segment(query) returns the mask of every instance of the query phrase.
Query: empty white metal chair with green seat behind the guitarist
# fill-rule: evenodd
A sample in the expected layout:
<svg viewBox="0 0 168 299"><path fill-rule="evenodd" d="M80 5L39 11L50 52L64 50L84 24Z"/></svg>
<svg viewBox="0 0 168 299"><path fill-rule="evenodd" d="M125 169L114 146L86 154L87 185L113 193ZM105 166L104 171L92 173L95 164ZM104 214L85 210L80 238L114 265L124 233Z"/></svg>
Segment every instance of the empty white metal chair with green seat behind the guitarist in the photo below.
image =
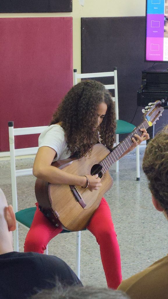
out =
<svg viewBox="0 0 168 299"><path fill-rule="evenodd" d="M116 113L116 145L119 144L119 134L129 134L135 129L135 126L132 123L128 123L124 120L118 119L118 85L117 85L117 68L114 68L114 71L111 72L102 72L102 73L86 73L86 74L77 74L77 69L73 70L74 74L74 85L78 83L78 79L89 79L89 78L100 78L100 77L114 77L114 84L104 85L106 89L114 89L115 97L112 97L112 100L115 102L115 113ZM97 80L97 79L96 79ZM119 171L119 163L115 162L115 170ZM136 180L140 180L140 162L139 162L139 145L136 147Z"/></svg>

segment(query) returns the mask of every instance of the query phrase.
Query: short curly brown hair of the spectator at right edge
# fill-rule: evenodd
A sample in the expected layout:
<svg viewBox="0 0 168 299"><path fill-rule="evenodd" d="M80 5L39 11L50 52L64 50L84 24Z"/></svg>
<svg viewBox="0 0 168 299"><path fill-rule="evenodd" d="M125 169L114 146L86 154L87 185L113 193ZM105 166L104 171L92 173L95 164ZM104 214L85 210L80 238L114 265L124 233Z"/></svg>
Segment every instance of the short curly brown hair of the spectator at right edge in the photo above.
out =
<svg viewBox="0 0 168 299"><path fill-rule="evenodd" d="M151 193L168 215L168 126L147 145L142 167Z"/></svg>

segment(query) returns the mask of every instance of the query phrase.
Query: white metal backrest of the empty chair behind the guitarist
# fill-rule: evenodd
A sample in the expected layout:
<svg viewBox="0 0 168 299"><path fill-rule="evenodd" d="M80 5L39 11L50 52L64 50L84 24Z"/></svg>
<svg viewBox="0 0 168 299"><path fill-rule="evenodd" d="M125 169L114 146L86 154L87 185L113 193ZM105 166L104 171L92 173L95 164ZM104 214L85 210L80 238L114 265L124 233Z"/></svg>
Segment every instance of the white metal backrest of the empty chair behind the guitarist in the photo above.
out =
<svg viewBox="0 0 168 299"><path fill-rule="evenodd" d="M114 84L104 85L106 89L114 89L115 97L112 97L112 100L115 102L115 113L116 119L118 119L118 86L117 86L117 68L114 68L112 72L103 72L103 73L86 73L78 74L77 69L73 70L74 74L74 85L78 83L78 79L88 79L88 78L100 78L100 77L114 77Z"/></svg>

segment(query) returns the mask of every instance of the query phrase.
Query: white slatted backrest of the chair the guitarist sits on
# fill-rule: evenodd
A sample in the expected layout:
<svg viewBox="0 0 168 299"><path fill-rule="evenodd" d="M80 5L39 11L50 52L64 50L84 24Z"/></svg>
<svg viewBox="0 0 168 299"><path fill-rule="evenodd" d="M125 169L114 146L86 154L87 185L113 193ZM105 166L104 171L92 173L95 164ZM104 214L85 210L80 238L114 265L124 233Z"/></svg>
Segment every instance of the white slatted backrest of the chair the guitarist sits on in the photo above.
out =
<svg viewBox="0 0 168 299"><path fill-rule="evenodd" d="M11 169L11 183L12 183L12 204L13 210L18 211L17 204L17 176L33 175L33 168L16 170L15 157L20 155L33 155L38 151L38 147L29 147L22 149L15 149L15 136L17 135L30 135L39 134L47 128L47 126L29 127L29 128L14 128L13 121L8 122L9 127L9 145L10 145L10 169Z"/></svg>

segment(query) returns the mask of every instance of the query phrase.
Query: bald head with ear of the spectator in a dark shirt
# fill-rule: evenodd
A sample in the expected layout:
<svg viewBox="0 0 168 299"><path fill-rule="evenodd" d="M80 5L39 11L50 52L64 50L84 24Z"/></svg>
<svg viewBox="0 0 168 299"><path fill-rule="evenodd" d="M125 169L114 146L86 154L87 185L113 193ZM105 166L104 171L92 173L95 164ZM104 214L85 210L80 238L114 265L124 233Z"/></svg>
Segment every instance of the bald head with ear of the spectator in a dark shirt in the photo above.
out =
<svg viewBox="0 0 168 299"><path fill-rule="evenodd" d="M0 189L0 254L13 251L12 231L16 229L16 219L11 205Z"/></svg>

